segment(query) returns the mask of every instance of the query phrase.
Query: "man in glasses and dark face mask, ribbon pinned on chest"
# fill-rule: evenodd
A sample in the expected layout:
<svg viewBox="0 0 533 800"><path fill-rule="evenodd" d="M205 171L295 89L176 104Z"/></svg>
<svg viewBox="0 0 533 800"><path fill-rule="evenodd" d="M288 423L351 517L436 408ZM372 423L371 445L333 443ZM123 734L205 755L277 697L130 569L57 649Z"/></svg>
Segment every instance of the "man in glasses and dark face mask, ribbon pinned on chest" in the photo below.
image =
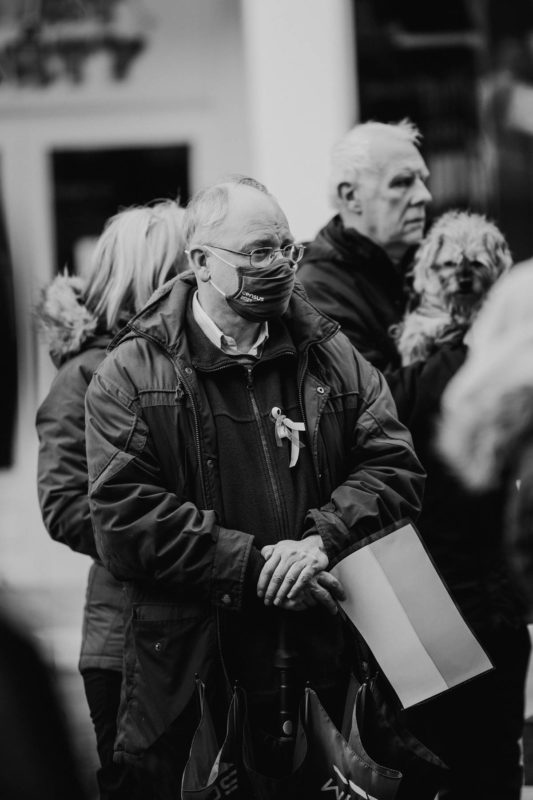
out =
<svg viewBox="0 0 533 800"><path fill-rule="evenodd" d="M264 186L200 192L192 272L127 326L87 396L90 503L100 555L130 619L117 758L146 797L179 796L197 724L226 683L278 732L281 620L340 722L348 674L328 572L360 537L416 515L423 471L381 377L295 283L302 247Z"/></svg>

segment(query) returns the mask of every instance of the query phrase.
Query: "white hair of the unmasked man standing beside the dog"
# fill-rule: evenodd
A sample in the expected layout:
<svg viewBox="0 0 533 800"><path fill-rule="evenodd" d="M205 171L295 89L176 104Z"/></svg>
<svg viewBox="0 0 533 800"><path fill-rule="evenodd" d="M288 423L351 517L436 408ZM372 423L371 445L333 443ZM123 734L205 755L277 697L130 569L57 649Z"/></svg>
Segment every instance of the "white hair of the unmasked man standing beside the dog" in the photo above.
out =
<svg viewBox="0 0 533 800"><path fill-rule="evenodd" d="M422 134L409 119L400 122L363 122L345 133L331 151L329 194L334 208L341 201L338 188L341 183L357 184L364 171L379 170L381 164L371 154L377 140L407 142L418 147Z"/></svg>

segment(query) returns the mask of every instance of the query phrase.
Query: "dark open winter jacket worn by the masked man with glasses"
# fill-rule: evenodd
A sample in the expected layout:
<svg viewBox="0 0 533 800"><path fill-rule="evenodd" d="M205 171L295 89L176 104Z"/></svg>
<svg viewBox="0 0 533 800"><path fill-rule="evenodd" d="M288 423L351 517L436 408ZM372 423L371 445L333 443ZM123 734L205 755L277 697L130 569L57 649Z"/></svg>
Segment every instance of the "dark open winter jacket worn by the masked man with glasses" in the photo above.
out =
<svg viewBox="0 0 533 800"><path fill-rule="evenodd" d="M263 607L255 599L263 564L258 542L253 533L227 523L234 510L225 509L221 487L228 476L221 475L220 464L231 443L217 438L224 427L211 408L223 370L238 367L224 364L229 357L218 355L210 365L192 356L194 288L189 273L160 292L115 342L87 393L97 546L110 571L130 582L126 703L118 737L118 748L129 755L142 752L179 716L195 673L210 674L218 652L217 616L234 625L240 619L242 630L251 630L248 618ZM315 499L299 532L320 533L333 561L357 538L416 516L423 472L383 378L338 325L304 299L299 286L282 324L296 351L290 375L305 421ZM269 352L272 378L278 380L288 352L266 350L254 370L266 367ZM241 372L245 386L250 374L244 366ZM275 517L281 500L275 471L267 465L276 444L274 426L262 415L263 401L262 395L250 399L249 408L257 409L256 448L264 453L264 468L250 470L237 460L234 469L243 497L271 496ZM230 402L220 391L217 402L234 411L233 395ZM223 412L217 410L226 416ZM271 541L283 532L277 526ZM307 615L296 615L302 628L315 637L323 632L328 641L335 620L324 619L320 609L301 613ZM241 639L255 647L254 658L271 661L271 652L258 651L263 633L258 622L250 641ZM315 651L311 660L319 657Z"/></svg>

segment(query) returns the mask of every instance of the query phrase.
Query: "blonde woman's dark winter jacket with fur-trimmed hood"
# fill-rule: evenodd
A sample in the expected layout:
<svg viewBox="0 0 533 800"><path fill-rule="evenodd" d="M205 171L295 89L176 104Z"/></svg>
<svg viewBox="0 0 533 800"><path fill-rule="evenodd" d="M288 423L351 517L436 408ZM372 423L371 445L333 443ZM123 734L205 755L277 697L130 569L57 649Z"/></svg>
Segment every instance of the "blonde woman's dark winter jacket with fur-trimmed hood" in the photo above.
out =
<svg viewBox="0 0 533 800"><path fill-rule="evenodd" d="M41 325L59 368L37 412L38 495L50 536L95 559L87 585L80 669L122 669L122 584L99 563L87 499L85 392L111 336L99 334L81 302L82 283L58 276L40 306Z"/></svg>

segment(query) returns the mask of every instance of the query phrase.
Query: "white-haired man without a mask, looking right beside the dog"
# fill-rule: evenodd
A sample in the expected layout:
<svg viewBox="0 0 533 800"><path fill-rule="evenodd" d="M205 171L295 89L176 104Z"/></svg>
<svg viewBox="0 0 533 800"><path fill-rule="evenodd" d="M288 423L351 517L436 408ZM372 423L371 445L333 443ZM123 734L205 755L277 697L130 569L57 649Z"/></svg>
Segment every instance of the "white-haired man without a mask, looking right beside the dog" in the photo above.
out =
<svg viewBox="0 0 533 800"><path fill-rule="evenodd" d="M389 327L405 309L405 271L431 195L420 133L408 120L365 122L334 147L330 194L337 214L308 245L298 277L378 369L400 366Z"/></svg>

